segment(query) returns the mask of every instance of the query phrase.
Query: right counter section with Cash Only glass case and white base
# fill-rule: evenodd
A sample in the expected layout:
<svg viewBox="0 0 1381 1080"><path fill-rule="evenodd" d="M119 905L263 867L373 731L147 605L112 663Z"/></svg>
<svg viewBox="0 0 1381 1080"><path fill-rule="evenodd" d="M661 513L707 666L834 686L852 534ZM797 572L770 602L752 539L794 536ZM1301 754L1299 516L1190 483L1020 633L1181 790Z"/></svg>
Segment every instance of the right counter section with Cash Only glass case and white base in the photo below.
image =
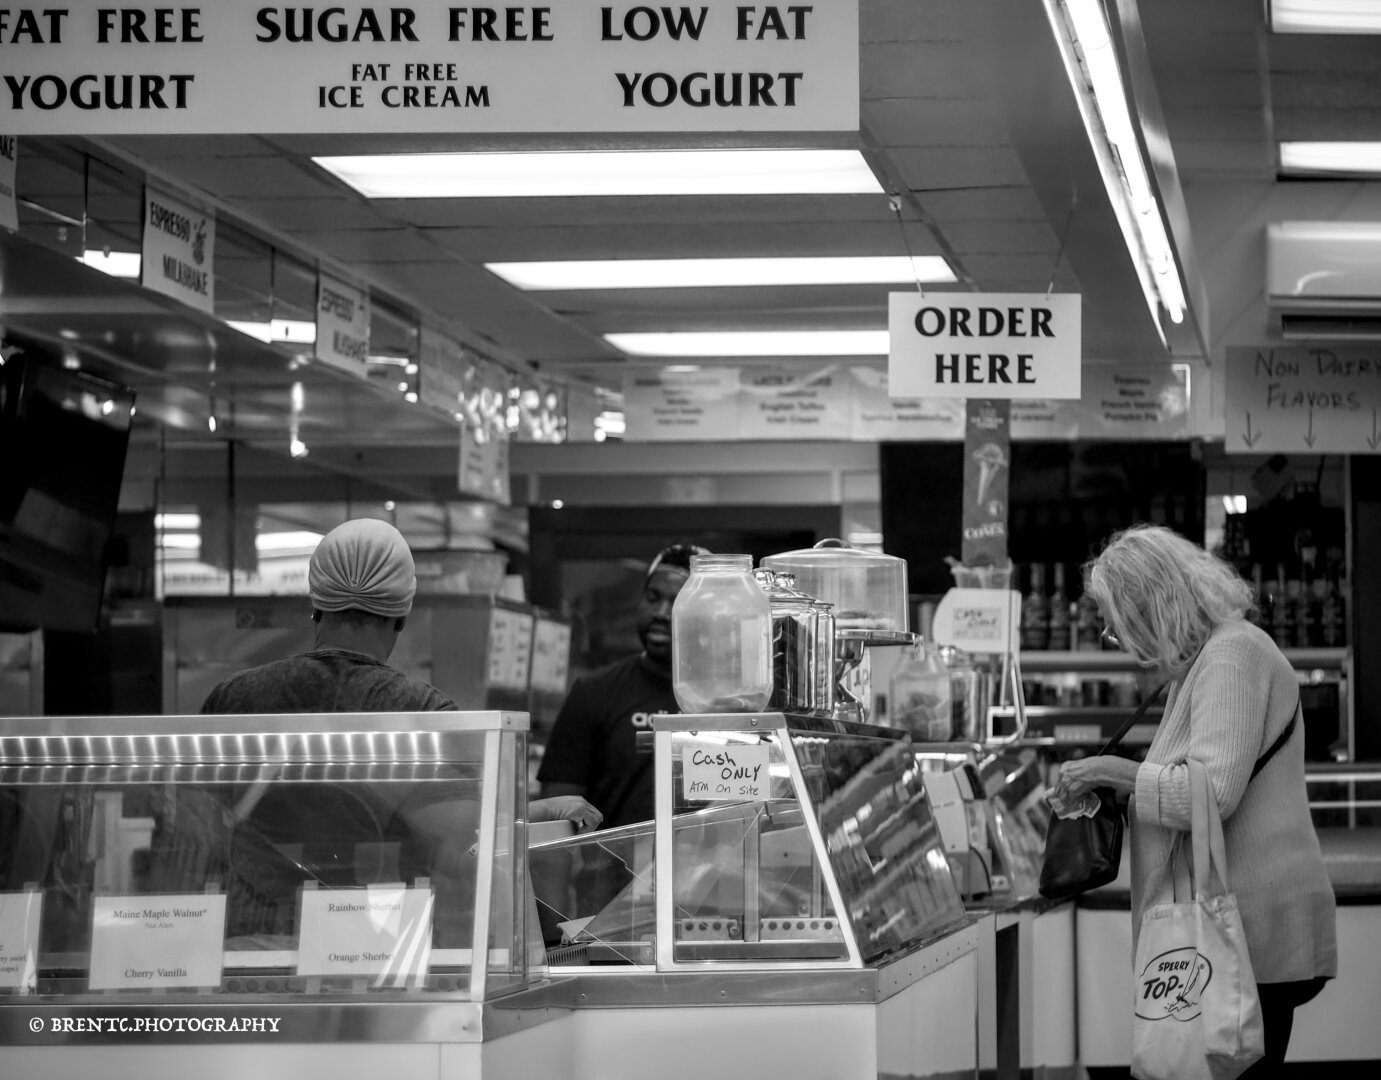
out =
<svg viewBox="0 0 1381 1080"><path fill-rule="evenodd" d="M655 822L530 852L577 1044L656 1045L688 1080L707 1032L721 1076L972 1074L992 918L964 910L910 737L783 713L653 726Z"/></svg>

